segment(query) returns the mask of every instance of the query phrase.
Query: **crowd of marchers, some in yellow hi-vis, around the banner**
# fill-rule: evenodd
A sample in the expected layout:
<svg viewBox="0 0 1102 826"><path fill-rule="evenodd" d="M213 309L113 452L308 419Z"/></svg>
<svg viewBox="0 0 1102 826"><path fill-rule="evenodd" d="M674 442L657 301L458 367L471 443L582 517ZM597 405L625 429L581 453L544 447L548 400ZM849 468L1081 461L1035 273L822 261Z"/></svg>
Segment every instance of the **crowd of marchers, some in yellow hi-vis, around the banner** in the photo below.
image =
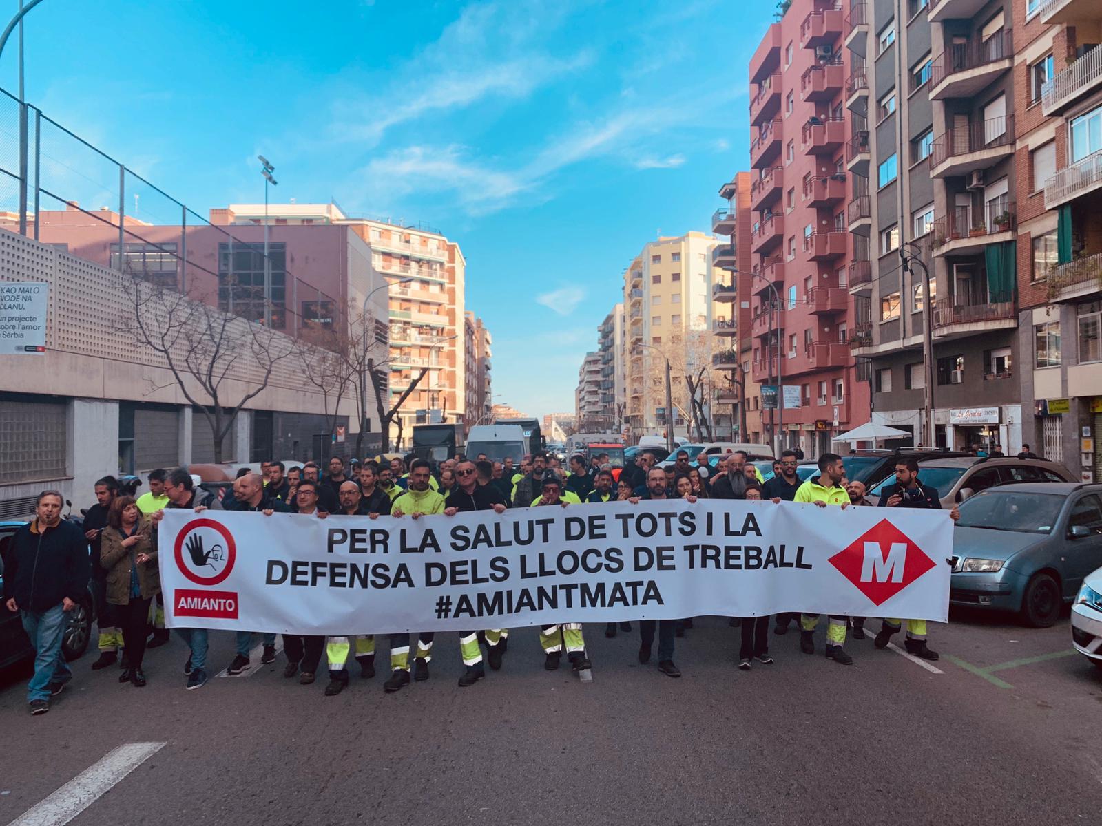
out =
<svg viewBox="0 0 1102 826"><path fill-rule="evenodd" d="M391 515L419 518L429 514L454 515L467 511L504 513L509 508L599 506L611 501L638 503L653 499L746 499L811 502L818 507L883 507L940 509L936 489L921 483L918 465L900 458L896 481L886 486L879 500L866 499L865 486L847 481L842 458L824 454L818 460L818 474L806 481L797 475L798 455L782 452L771 461L771 476L763 481L761 468L746 453L736 450L721 457L712 467L705 457L691 463L689 454L678 452L673 461L658 466L652 453L641 453L624 468L608 465L607 455L587 463L584 456L571 456L569 469L558 457L538 452L526 455L517 466L511 459L490 461L484 455L456 456L433 467L424 459L393 457L389 460L345 461L334 456L327 474L313 461L285 467L280 461L261 463L261 472L242 469L233 483L233 492L206 489L186 468L154 470L149 475L149 491L137 499L120 493L118 481L106 476L96 481L96 504L77 526L62 518L62 494L43 491L37 497L35 519L12 539L4 559L3 601L11 611L20 611L23 627L35 649L34 675L28 687L32 714L50 709L50 698L72 678L72 670L62 655L66 613L84 597L89 587L95 594L99 626L99 656L91 664L101 671L118 663L120 683L134 687L147 684L144 652L169 641L164 628L164 604L158 573L158 526L165 509L194 511L227 510L272 513L298 513L327 519L344 515ZM222 496L219 496L222 492ZM763 506L767 507L767 506ZM951 517L958 518L953 509ZM90 551L90 553L89 553ZM800 650L815 652L814 631L818 615L779 613L774 633L784 634L791 622L799 623ZM864 639L864 617L831 616L827 627L825 655L849 665L853 657L843 648L852 626L853 637ZM771 664L768 637L770 617L732 618L741 627L738 667L748 671L755 663ZM892 635L903 629L904 620L885 618L875 637L875 646L888 645ZM907 651L926 660L938 654L927 644L925 620L906 620ZM658 641L658 670L679 677L674 665L674 640L692 628L692 619L641 620L639 626L640 663L651 660ZM175 629L188 646L184 665L186 688L202 687L208 680L206 629ZM605 635L629 632L630 622L609 622ZM276 634L261 633L260 663L277 659ZM471 686L486 676L483 649L490 670L503 666L508 650L508 629L483 629L460 634L463 673L460 686ZM398 692L410 681L429 680L432 659L432 632L417 637L412 657L410 634L389 634L388 693ZM574 671L592 667L581 623L543 626L540 644L544 667L560 667L563 652ZM253 633L236 632L235 656L227 667L239 674L251 667ZM283 676L299 683L315 682L322 657L326 660L328 683L325 695L344 691L350 680L349 654L363 677L375 676L376 640L374 635L293 635L283 634L287 662Z"/></svg>

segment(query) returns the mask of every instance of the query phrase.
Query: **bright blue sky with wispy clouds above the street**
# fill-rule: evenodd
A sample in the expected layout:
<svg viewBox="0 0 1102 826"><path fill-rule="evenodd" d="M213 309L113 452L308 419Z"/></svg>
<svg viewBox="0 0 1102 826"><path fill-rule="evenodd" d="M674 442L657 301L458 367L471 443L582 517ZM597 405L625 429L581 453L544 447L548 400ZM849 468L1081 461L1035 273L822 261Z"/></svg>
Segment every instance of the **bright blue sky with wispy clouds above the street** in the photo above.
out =
<svg viewBox="0 0 1102 826"><path fill-rule="evenodd" d="M746 167L747 64L773 7L44 0L26 97L201 215L262 198L262 153L280 200L440 228L495 338L495 401L542 415L573 411L639 247L709 229Z"/></svg>

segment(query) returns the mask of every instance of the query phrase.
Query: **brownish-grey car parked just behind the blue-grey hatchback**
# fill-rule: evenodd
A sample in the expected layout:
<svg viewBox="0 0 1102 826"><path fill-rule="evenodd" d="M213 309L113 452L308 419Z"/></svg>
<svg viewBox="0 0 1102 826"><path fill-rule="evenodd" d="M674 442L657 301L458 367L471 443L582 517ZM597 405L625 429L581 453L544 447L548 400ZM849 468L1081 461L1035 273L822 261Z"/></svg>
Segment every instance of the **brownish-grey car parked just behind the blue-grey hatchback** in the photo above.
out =
<svg viewBox="0 0 1102 826"><path fill-rule="evenodd" d="M895 465L892 465L895 470ZM996 485L1024 482L1071 482L1076 477L1066 467L1045 459L977 459L974 456L936 456L918 460L918 478L923 485L938 489L941 507L950 509L969 497ZM876 500L887 485L894 485L889 474L872 490L868 498Z"/></svg>

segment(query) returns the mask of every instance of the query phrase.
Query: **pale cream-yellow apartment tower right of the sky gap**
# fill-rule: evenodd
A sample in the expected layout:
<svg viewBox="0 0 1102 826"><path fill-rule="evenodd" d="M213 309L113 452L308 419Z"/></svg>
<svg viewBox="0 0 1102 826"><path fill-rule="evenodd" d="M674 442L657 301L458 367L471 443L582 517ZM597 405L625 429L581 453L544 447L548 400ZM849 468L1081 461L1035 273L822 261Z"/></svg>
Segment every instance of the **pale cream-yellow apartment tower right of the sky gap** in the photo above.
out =
<svg viewBox="0 0 1102 826"><path fill-rule="evenodd" d="M685 374L706 367L711 378L715 246L703 232L662 237L644 244L624 273L626 425L636 438L665 430L667 362L680 434L692 417Z"/></svg>

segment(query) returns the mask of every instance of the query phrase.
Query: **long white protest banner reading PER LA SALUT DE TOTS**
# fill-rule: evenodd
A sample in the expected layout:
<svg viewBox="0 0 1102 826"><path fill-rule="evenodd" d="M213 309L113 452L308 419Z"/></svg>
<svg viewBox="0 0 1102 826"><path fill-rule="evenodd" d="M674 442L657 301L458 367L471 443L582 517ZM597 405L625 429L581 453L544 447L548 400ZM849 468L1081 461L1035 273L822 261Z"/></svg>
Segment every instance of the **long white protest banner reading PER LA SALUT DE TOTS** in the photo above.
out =
<svg viewBox="0 0 1102 826"><path fill-rule="evenodd" d="M683 500L455 517L166 510L169 627L298 634L778 611L947 620L948 512Z"/></svg>

